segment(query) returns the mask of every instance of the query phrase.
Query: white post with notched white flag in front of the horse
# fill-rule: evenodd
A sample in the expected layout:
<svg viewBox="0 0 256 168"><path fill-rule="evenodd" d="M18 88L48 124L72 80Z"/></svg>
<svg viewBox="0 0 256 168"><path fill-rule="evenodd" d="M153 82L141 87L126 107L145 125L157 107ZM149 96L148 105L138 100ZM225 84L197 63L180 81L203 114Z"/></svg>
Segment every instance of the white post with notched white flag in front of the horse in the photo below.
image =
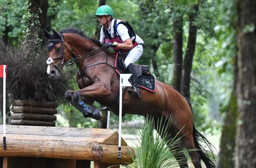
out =
<svg viewBox="0 0 256 168"><path fill-rule="evenodd" d="M132 76L132 74L120 74L119 81L119 137L118 137L118 160L121 159L121 131L122 131L122 87L123 86L132 86L128 79Z"/></svg>

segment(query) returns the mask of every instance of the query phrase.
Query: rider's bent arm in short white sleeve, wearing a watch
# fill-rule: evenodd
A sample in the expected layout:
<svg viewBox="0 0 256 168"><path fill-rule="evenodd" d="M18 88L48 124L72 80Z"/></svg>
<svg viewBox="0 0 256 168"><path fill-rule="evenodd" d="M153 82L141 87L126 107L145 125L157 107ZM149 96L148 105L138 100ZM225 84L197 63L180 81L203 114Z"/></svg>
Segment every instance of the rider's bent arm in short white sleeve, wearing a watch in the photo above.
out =
<svg viewBox="0 0 256 168"><path fill-rule="evenodd" d="M123 24L117 26L117 33L123 41L123 43L118 43L117 47L120 49L132 49L133 42L128 34L128 29Z"/></svg>

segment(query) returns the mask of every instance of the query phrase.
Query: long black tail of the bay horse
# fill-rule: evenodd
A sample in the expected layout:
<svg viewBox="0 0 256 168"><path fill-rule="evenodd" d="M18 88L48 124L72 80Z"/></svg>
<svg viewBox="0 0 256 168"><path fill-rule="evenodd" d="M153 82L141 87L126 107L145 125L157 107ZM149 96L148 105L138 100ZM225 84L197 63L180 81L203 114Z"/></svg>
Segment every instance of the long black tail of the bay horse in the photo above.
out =
<svg viewBox="0 0 256 168"><path fill-rule="evenodd" d="M190 101L186 98L191 111L193 113L192 105ZM195 147L198 149L198 153L204 162L206 168L214 168L215 167L215 157L212 148L215 148L200 132L198 132L195 128L194 122L193 122L193 139L194 139L194 144ZM207 147L209 148L209 151L204 149L204 147L200 143L205 143ZM212 159L211 159L212 157Z"/></svg>

